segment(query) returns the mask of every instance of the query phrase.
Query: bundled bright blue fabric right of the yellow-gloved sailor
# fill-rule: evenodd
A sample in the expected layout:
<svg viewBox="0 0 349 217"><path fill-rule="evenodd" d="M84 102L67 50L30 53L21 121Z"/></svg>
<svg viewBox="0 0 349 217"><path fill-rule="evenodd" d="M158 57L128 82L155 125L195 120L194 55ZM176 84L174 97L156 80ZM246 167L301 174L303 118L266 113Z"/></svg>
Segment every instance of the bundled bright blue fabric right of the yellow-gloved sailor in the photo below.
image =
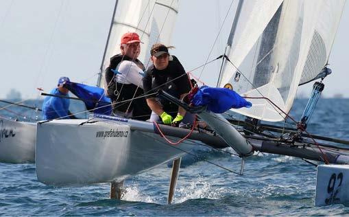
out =
<svg viewBox="0 0 349 217"><path fill-rule="evenodd" d="M202 86L191 100L195 106L207 106L208 111L224 113L229 109L250 108L251 102L246 101L235 91L227 88Z"/></svg>

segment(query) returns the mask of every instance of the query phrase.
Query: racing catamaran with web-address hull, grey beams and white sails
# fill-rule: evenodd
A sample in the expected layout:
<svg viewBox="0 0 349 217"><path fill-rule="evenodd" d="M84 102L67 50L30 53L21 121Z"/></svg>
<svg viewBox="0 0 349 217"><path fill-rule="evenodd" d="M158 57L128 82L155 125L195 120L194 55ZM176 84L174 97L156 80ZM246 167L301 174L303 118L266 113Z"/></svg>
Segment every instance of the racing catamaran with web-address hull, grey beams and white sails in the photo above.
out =
<svg viewBox="0 0 349 217"><path fill-rule="evenodd" d="M172 3L156 1L154 5L176 14L178 3L176 7ZM230 119L229 122L223 115L206 110L206 106L189 106L171 98L171 95L159 93L197 113L210 130L191 132L169 126L158 128L157 124L108 115L45 122L38 124L37 128L38 180L49 185L122 181L176 159L198 144L230 146L241 157L241 168L254 151L349 164L346 148L320 143L315 139L330 139L306 131L306 124L324 86L322 82L315 83L311 100L296 128L261 123L292 119L289 111L298 85L316 78L324 79L330 72L326 64L344 3L330 0L239 1L217 86L234 89L252 102L250 109L232 109L233 113L245 115L245 121ZM145 37L145 45L151 44L147 22L140 22L141 19L137 18L136 25L132 26L127 16L120 15L125 5L125 1L117 1L101 75L108 65L106 57L115 54L112 49L119 41L119 28L123 30L121 32L139 32ZM133 10L141 8L134 7ZM163 35L161 31L159 35ZM101 80L104 80L103 76L99 84ZM163 134L160 135L163 131L171 139L186 139L173 146L165 141ZM331 141L346 143L338 139Z"/></svg>

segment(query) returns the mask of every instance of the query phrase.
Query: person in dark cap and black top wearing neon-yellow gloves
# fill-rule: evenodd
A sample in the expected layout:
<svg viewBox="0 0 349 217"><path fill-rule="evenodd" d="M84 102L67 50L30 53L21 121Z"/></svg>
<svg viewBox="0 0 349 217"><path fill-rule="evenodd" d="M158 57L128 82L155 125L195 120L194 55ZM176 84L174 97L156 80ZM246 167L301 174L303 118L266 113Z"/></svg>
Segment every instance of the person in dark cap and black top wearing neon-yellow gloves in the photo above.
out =
<svg viewBox="0 0 349 217"><path fill-rule="evenodd" d="M169 54L169 49L162 44L155 44L150 50L151 65L145 72L143 87L145 93L154 93L159 89L170 93L178 99L191 90L190 80L176 56ZM182 107L172 104L162 98L147 96L147 104L152 109L150 121L158 122L161 118L163 124L178 126L182 124L192 124L195 115L186 113Z"/></svg>

